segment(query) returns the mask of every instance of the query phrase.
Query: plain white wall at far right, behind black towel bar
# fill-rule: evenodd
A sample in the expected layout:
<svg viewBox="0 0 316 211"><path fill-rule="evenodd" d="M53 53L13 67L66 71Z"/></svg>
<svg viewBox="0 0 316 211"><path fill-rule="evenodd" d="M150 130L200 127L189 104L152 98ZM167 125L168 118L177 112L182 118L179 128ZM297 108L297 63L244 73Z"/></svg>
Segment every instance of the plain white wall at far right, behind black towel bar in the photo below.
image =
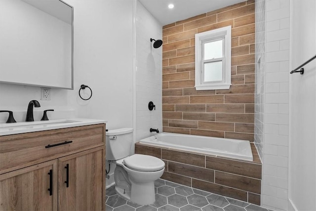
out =
<svg viewBox="0 0 316 211"><path fill-rule="evenodd" d="M291 1L291 69L316 54L316 1ZM316 60L290 76L289 210L316 210Z"/></svg>

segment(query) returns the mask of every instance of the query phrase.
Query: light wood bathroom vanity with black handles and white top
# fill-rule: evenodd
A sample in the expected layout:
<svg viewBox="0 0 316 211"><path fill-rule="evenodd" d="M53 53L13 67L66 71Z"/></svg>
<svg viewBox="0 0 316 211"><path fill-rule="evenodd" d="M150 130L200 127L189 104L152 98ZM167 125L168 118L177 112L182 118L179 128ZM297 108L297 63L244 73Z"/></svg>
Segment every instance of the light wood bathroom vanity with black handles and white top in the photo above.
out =
<svg viewBox="0 0 316 211"><path fill-rule="evenodd" d="M105 123L2 127L0 211L104 211Z"/></svg>

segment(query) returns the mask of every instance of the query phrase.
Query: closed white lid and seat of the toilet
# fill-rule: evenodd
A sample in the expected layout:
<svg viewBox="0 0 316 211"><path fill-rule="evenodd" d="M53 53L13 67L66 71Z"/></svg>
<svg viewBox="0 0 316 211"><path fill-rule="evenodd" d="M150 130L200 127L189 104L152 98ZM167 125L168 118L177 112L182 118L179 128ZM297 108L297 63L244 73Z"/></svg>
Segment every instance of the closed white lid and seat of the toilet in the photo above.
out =
<svg viewBox="0 0 316 211"><path fill-rule="evenodd" d="M129 169L156 171L164 168L164 162L150 155L134 154L124 159L123 164Z"/></svg>

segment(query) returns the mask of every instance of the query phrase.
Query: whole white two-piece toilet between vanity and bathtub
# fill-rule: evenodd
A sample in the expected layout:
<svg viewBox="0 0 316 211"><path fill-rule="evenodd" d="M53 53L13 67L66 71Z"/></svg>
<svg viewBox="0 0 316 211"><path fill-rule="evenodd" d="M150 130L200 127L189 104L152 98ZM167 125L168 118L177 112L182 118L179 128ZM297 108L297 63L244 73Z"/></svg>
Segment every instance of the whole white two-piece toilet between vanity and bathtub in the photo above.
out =
<svg viewBox="0 0 316 211"><path fill-rule="evenodd" d="M155 203L154 181L164 171L164 162L149 155L130 155L133 128L106 132L106 158L117 167L114 171L115 190L121 197L139 204Z"/></svg>

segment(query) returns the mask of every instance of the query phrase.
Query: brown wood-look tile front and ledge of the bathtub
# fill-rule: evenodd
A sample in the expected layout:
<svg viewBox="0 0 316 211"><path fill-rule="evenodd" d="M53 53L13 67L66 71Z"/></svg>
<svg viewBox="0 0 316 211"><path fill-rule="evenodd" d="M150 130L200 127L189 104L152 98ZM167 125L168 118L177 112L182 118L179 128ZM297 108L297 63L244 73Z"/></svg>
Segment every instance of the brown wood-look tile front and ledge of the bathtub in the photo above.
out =
<svg viewBox="0 0 316 211"><path fill-rule="evenodd" d="M162 179L260 205L262 165L253 143L251 150L253 162L135 144L136 154L164 161Z"/></svg>

